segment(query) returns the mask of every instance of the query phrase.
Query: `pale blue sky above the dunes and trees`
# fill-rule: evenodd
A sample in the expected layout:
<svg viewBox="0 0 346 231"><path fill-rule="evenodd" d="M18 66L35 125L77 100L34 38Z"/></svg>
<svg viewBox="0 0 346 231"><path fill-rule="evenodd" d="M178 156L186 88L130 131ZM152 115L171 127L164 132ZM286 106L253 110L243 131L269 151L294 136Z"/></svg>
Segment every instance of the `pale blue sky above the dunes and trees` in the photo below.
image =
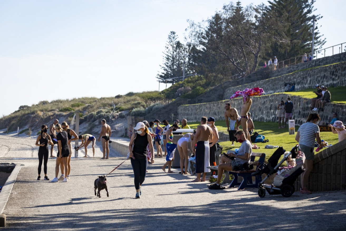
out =
<svg viewBox="0 0 346 231"><path fill-rule="evenodd" d="M183 42L186 19L207 19L224 3L0 0L0 116L41 100L158 90L169 32ZM346 42L345 3L317 0L315 8L324 16L318 23L325 47Z"/></svg>

